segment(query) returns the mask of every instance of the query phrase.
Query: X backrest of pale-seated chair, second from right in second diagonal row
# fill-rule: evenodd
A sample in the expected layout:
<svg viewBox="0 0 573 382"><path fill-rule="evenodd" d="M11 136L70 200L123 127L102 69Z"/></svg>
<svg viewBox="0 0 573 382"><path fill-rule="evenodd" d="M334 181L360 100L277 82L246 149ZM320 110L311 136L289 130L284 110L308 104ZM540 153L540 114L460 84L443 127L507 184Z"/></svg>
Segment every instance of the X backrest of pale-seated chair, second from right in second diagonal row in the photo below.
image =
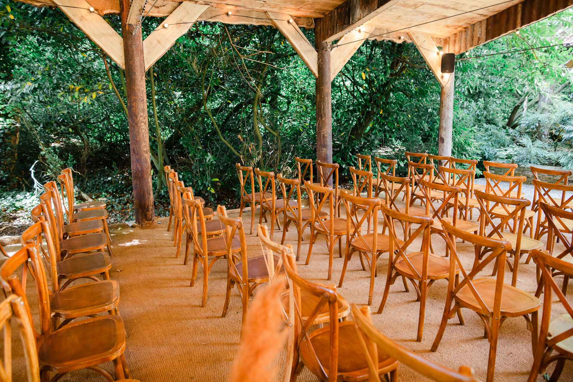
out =
<svg viewBox="0 0 573 382"><path fill-rule="evenodd" d="M497 196L493 194L488 194L480 190L476 190L476 199L480 203L480 235L486 236L488 238L504 238L503 230L504 227L509 225L509 222L513 220L514 232L517 234L517 241L515 249L521 248L521 235L523 235L523 225L525 222L525 207L529 206L531 202L527 199L517 199L508 198L507 196ZM511 206L511 208L508 208ZM500 217L499 214L494 214L493 211L497 208L503 208L504 215ZM519 215L519 216L518 216ZM493 219L500 219L500 223L496 224ZM517 231L515 227L518 225ZM485 229L488 225L492 226L492 231L489 234L485 234Z"/></svg>

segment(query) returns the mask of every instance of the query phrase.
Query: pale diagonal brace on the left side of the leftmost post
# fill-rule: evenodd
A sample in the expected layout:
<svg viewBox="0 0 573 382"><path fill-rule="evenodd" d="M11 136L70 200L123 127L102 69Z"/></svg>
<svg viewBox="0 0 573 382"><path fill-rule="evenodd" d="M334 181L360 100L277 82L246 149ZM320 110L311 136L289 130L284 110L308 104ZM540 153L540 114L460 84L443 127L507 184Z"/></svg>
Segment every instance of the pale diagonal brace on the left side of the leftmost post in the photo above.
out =
<svg viewBox="0 0 573 382"><path fill-rule="evenodd" d="M125 69L123 40L85 0L53 0L77 27L101 48L121 69Z"/></svg>

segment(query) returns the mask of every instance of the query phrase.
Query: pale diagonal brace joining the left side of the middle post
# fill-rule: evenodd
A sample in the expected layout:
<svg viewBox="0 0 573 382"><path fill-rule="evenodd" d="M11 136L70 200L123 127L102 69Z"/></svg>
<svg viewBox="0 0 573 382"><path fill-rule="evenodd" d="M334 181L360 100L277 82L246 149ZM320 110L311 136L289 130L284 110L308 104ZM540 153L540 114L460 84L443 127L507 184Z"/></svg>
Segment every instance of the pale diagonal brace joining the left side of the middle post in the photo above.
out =
<svg viewBox="0 0 573 382"><path fill-rule="evenodd" d="M265 12L267 17L273 22L282 33L282 36L288 40L295 52L299 54L300 58L311 70L315 77L318 76L317 69L317 54L315 48L308 41L307 37L294 22L290 15L284 13ZM293 20L293 22L289 22Z"/></svg>

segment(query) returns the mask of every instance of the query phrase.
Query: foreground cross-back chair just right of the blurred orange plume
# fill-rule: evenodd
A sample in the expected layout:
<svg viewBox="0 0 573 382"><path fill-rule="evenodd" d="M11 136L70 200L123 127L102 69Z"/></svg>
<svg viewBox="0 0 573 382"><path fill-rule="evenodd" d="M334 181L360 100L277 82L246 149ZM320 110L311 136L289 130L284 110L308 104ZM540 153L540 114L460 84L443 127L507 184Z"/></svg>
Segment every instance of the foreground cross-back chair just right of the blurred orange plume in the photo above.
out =
<svg viewBox="0 0 573 382"><path fill-rule="evenodd" d="M351 321L339 322L339 295L334 285L318 285L301 278L296 271L293 255L284 251L285 271L289 283L291 306L291 336L289 349L292 349L290 381L295 382L301 371L300 361L321 381L366 381L368 363L359 353L360 337L356 335ZM303 310L303 301L307 308ZM308 298L306 296L311 296ZM328 324L311 332L312 325L319 315L328 309ZM310 314L307 312L311 312ZM308 316L303 316L308 314ZM289 352L290 353L290 352ZM397 361L378 353L380 375L391 373L391 382L397 382Z"/></svg>

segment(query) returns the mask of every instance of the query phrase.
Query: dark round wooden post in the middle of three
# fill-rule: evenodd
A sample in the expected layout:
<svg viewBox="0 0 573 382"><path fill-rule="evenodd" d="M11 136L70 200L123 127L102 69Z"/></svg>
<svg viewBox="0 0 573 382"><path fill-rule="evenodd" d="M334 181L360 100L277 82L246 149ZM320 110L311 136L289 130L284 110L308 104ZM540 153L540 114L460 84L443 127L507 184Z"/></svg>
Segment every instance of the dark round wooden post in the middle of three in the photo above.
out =
<svg viewBox="0 0 573 382"><path fill-rule="evenodd" d="M320 19L317 20L320 23ZM316 77L316 159L332 163L332 94L330 74L330 43L323 41L320 27L315 27L315 48L318 52Z"/></svg>

